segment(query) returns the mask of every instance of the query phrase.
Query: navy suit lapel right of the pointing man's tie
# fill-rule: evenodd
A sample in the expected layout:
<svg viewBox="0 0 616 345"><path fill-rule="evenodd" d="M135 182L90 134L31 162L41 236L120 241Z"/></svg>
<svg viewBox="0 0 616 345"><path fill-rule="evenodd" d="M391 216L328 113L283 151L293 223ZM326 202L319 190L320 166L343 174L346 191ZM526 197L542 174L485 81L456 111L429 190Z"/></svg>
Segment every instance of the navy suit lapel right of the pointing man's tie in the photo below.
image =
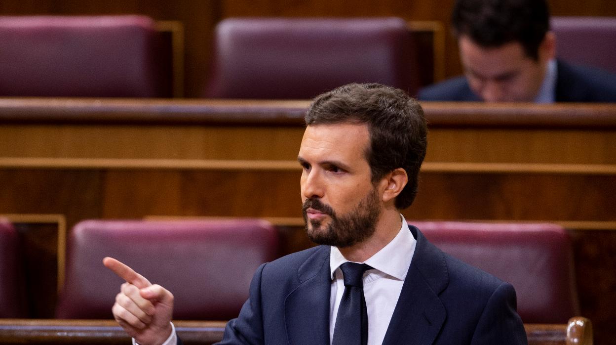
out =
<svg viewBox="0 0 616 345"><path fill-rule="evenodd" d="M410 229L417 246L383 344L432 344L447 317L438 296L448 283L445 258L417 228Z"/></svg>

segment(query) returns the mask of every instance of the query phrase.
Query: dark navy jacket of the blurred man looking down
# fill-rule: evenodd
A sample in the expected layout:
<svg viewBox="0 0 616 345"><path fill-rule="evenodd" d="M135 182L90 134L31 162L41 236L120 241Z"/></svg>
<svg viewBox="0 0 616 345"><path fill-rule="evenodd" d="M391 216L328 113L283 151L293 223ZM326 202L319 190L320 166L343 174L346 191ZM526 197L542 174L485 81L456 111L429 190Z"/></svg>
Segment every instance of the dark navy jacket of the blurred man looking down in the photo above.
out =
<svg viewBox="0 0 616 345"><path fill-rule="evenodd" d="M593 67L556 61L556 102L616 102L616 75ZM476 101L465 77L456 77L420 89L421 101Z"/></svg>

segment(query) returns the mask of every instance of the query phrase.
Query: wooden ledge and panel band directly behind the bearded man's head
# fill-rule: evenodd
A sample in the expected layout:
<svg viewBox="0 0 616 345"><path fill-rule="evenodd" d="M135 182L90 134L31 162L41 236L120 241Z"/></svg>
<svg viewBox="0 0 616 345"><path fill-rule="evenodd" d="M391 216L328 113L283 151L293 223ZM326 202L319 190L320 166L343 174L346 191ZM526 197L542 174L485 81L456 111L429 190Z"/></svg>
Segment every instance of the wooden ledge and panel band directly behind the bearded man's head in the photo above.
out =
<svg viewBox="0 0 616 345"><path fill-rule="evenodd" d="M0 157L295 160L306 101L0 99ZM426 162L615 164L612 104L425 102Z"/></svg>

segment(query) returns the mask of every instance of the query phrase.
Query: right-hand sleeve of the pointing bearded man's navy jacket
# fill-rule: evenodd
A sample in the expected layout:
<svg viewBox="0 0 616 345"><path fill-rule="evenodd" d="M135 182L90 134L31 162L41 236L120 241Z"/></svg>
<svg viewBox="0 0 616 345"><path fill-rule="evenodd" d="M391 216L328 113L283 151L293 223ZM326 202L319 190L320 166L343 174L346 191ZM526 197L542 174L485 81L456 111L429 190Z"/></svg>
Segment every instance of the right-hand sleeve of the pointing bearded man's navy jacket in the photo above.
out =
<svg viewBox="0 0 616 345"><path fill-rule="evenodd" d="M516 312L516 291L509 283L502 283L482 312L472 336L471 344L526 345L524 323Z"/></svg>

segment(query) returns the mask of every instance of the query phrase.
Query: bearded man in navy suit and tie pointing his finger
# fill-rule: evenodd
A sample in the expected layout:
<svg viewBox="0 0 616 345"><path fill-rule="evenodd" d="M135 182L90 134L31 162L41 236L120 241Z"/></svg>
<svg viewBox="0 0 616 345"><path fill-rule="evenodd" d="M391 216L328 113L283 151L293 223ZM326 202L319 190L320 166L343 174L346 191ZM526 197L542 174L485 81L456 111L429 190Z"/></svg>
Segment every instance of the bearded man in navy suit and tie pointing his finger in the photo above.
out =
<svg viewBox="0 0 616 345"><path fill-rule="evenodd" d="M341 86L314 99L306 125L302 211L320 245L261 265L221 344L527 343L513 286L440 251L400 214L426 154L418 102L379 84ZM171 293L104 264L127 281L112 309L124 330L141 345L179 343ZM350 266L358 283L347 284Z"/></svg>

